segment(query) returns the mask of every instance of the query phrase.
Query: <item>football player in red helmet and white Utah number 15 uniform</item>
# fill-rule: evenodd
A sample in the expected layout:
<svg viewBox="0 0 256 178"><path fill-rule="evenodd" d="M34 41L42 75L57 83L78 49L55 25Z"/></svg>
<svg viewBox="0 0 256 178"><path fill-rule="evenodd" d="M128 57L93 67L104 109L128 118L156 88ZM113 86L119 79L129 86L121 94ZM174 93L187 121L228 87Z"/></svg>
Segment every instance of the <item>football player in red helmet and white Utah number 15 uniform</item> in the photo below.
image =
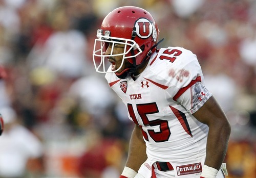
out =
<svg viewBox="0 0 256 178"><path fill-rule="evenodd" d="M97 31L95 69L135 123L120 178L223 178L228 119L205 88L196 55L157 48L158 35L152 15L132 6L110 12Z"/></svg>

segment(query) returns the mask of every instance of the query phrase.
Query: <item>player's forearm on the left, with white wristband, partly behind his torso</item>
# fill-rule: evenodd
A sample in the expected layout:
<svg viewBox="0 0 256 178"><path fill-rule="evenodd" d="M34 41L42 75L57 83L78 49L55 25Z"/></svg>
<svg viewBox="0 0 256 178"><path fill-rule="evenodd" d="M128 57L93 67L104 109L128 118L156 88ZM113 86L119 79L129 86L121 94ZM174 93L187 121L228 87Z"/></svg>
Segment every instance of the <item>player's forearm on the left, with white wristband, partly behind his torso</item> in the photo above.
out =
<svg viewBox="0 0 256 178"><path fill-rule="evenodd" d="M143 140L140 127L135 125L129 144L129 152L125 168L120 177L134 177L141 164L144 163L146 159L145 141Z"/></svg>

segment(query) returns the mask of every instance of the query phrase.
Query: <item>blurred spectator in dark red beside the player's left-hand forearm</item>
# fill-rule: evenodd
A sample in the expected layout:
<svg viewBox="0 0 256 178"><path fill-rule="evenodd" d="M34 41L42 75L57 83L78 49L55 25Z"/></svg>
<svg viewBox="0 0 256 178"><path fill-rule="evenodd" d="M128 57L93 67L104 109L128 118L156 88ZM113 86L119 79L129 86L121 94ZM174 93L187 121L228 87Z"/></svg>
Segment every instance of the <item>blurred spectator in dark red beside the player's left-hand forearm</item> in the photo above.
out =
<svg viewBox="0 0 256 178"><path fill-rule="evenodd" d="M83 178L118 178L123 159L123 146L116 139L104 137L100 131L88 133L88 148L78 160L78 174Z"/></svg>

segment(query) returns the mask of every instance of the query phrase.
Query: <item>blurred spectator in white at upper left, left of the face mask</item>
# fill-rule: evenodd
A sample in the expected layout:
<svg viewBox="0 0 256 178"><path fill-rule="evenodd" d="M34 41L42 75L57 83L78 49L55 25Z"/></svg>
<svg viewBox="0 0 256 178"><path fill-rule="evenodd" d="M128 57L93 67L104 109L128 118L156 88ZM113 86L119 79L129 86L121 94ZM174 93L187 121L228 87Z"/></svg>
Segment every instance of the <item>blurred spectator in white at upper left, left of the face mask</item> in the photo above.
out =
<svg viewBox="0 0 256 178"><path fill-rule="evenodd" d="M52 15L54 32L44 45L35 45L30 54L32 68L46 66L66 78L81 77L86 68L86 36L74 30L65 9L57 9Z"/></svg>

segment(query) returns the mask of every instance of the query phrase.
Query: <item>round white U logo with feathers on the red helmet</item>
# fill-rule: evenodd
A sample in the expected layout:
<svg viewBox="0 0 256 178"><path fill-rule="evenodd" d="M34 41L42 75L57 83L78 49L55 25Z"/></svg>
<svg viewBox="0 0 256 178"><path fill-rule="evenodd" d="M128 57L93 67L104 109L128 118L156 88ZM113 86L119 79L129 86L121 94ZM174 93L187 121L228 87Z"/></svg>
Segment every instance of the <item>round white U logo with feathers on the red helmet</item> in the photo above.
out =
<svg viewBox="0 0 256 178"><path fill-rule="evenodd" d="M146 39L152 35L154 41L157 40L157 32L152 21L146 18L139 18L135 22L136 33L140 38Z"/></svg>

